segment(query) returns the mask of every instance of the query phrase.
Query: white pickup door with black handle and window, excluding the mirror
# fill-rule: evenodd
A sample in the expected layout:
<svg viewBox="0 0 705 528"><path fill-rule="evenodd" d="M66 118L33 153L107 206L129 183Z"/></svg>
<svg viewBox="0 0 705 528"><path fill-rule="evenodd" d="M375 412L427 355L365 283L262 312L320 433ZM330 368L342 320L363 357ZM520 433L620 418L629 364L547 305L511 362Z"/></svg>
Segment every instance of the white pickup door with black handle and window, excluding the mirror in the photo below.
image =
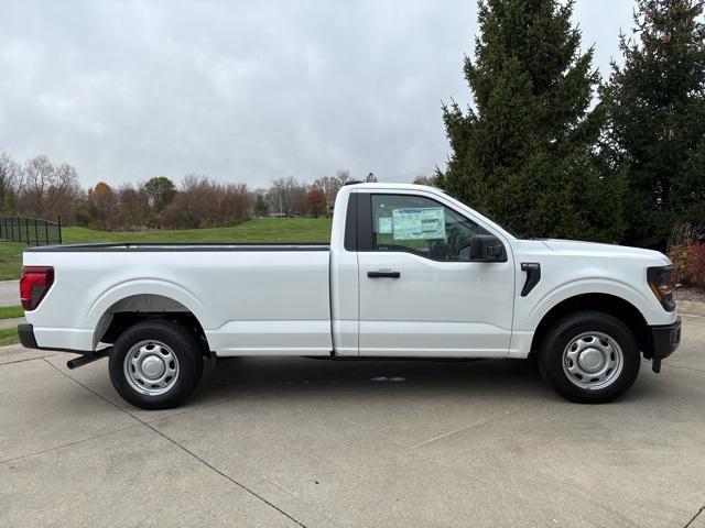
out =
<svg viewBox="0 0 705 528"><path fill-rule="evenodd" d="M514 273L499 233L423 191L359 193L357 217L360 356L507 356ZM488 233L507 261L464 261Z"/></svg>

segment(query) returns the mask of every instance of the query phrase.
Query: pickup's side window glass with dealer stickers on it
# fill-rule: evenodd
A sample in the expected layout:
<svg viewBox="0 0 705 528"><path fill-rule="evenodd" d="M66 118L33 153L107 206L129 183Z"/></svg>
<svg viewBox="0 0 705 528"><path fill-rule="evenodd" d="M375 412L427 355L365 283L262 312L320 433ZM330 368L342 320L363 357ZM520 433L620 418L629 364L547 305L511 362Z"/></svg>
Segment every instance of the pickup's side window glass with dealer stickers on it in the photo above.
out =
<svg viewBox="0 0 705 528"><path fill-rule="evenodd" d="M372 250L406 251L458 261L470 239L487 231L453 209L413 195L372 195Z"/></svg>

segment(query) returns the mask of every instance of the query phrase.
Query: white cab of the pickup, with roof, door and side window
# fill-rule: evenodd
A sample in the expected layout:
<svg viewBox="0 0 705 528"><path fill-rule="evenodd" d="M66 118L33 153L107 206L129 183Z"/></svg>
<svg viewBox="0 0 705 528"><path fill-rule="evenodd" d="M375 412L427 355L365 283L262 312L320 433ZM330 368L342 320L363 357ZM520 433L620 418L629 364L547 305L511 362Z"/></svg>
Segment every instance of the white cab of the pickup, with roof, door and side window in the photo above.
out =
<svg viewBox="0 0 705 528"><path fill-rule="evenodd" d="M336 352L508 355L516 282L511 234L422 186L349 186L336 210L346 211L334 217L332 234Z"/></svg>

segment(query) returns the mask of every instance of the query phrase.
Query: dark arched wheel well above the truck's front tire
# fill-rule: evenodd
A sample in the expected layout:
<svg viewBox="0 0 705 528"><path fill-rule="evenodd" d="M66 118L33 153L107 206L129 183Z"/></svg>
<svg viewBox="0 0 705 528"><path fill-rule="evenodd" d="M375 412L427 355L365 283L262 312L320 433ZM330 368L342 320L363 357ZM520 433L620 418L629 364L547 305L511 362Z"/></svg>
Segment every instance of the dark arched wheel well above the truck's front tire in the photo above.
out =
<svg viewBox="0 0 705 528"><path fill-rule="evenodd" d="M570 314L584 310L601 311L603 314L608 314L619 319L633 332L634 338L637 338L639 349L643 353L644 358L651 358L653 352L653 341L651 332L649 332L649 326L641 312L631 302L622 299L621 297L608 294L576 295L575 297L562 300L551 308L551 310L543 316L543 319L541 319L541 322L533 334L531 353L536 353L541 341L555 321Z"/></svg>

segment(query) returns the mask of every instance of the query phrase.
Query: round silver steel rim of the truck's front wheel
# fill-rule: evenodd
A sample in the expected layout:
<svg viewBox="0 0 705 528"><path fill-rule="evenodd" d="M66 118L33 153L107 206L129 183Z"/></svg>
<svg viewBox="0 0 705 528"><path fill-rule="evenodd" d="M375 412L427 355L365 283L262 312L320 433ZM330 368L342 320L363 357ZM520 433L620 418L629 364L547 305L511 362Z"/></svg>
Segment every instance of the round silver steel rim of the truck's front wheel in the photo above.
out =
<svg viewBox="0 0 705 528"><path fill-rule="evenodd" d="M573 385L589 391L615 383L623 364L617 341L601 332L581 333L563 351L563 372Z"/></svg>

